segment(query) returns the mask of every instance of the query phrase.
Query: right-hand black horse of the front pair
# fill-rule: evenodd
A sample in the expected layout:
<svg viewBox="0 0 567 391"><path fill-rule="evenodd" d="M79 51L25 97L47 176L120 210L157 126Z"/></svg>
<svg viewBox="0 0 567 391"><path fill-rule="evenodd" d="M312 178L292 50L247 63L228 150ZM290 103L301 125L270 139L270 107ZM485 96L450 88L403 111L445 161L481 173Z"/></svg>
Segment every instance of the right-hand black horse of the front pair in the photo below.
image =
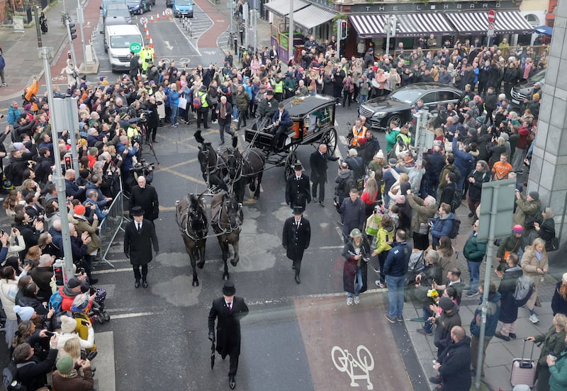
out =
<svg viewBox="0 0 567 391"><path fill-rule="evenodd" d="M232 193L223 191L215 194L210 201L210 226L217 234L218 244L223 251L223 262L225 270L223 279L228 280L228 245L232 244L235 256L230 260L232 266L236 266L240 256L238 255L238 240L240 239L240 230L242 229L242 204L238 203L236 196Z"/></svg>

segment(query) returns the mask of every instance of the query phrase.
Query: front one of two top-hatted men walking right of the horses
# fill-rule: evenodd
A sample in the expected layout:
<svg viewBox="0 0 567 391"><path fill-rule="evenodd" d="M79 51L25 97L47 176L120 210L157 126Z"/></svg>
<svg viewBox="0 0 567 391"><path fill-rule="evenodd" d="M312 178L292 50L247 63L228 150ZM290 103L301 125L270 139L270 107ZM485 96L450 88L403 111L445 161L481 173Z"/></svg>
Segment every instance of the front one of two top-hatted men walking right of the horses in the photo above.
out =
<svg viewBox="0 0 567 391"><path fill-rule="evenodd" d="M289 217L283 223L283 234L281 234L281 244L286 249L286 255L296 270L296 283L301 283L299 272L301 271L301 261L303 251L308 248L311 240L311 226L309 220L303 217L303 208L296 206L293 208L293 217Z"/></svg>

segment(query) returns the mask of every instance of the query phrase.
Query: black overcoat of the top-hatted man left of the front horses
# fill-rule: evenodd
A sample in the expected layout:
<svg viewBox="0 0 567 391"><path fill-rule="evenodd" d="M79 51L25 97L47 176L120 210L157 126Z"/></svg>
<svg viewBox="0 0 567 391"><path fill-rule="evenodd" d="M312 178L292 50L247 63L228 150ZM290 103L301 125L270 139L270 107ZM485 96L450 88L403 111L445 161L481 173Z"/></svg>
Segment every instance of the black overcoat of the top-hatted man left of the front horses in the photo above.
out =
<svg viewBox="0 0 567 391"><path fill-rule="evenodd" d="M137 232L134 220L124 229L124 254L130 256L130 264L147 265L152 261L152 246L159 251L154 224L150 220L142 221L142 229Z"/></svg>

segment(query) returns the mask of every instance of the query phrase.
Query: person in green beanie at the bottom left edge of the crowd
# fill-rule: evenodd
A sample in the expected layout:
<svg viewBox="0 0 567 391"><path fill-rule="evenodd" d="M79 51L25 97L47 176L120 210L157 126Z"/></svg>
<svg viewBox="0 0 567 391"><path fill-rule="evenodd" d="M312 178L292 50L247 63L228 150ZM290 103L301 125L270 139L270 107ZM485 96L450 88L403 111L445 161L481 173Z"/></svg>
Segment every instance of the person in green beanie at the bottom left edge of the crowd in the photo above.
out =
<svg viewBox="0 0 567 391"><path fill-rule="evenodd" d="M62 356L55 364L53 389L57 391L91 391L94 380L91 361L79 358L77 363L69 356ZM77 369L81 368L79 371Z"/></svg>

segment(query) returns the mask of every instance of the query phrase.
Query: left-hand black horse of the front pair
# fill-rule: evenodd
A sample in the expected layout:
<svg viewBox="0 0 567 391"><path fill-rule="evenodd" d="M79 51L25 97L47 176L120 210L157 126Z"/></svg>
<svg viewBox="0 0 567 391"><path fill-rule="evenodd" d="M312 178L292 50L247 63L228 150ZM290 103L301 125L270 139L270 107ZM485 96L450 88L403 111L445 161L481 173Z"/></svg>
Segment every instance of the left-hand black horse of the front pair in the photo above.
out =
<svg viewBox="0 0 567 391"><path fill-rule="evenodd" d="M177 225L181 229L185 250L189 254L189 259L191 259L193 286L199 285L196 266L198 268L205 266L208 220L202 196L202 194L198 197L194 194L189 194L176 204ZM198 263L196 263L197 260Z"/></svg>

